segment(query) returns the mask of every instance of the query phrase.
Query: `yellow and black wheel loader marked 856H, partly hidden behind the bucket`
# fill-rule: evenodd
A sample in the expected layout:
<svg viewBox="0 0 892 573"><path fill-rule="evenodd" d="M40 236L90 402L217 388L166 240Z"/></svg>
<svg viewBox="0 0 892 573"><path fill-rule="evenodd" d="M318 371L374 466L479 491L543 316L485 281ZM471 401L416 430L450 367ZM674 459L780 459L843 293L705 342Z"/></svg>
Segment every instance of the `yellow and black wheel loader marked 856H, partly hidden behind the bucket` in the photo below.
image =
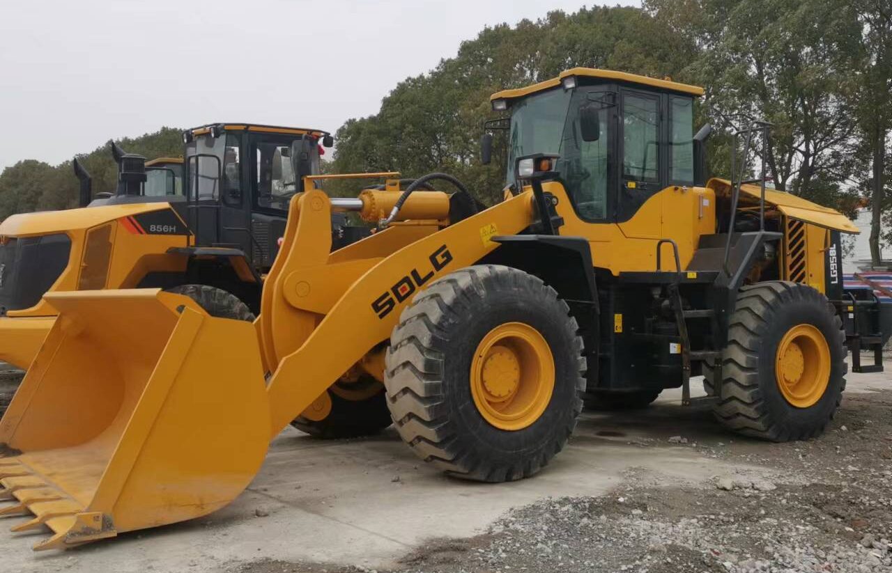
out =
<svg viewBox="0 0 892 573"><path fill-rule="evenodd" d="M326 132L249 124L186 131L185 159L145 161L110 142L118 189L95 197L74 160L84 209L0 224L0 360L28 368L54 323L45 292L160 287L212 314L253 319L297 192L287 153L301 138L313 143L308 169L318 173ZM336 241L355 238L343 219L333 230Z"/></svg>

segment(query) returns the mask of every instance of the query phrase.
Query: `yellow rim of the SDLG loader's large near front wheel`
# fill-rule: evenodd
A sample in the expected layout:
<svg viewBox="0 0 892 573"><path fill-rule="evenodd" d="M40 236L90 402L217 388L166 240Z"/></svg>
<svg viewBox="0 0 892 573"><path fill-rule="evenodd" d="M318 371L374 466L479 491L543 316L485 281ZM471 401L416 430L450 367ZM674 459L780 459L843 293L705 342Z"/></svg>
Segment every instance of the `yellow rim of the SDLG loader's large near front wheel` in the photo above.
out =
<svg viewBox="0 0 892 573"><path fill-rule="evenodd" d="M549 343L529 324L504 323L487 332L471 361L471 396L486 422L523 430L539 420L555 387Z"/></svg>

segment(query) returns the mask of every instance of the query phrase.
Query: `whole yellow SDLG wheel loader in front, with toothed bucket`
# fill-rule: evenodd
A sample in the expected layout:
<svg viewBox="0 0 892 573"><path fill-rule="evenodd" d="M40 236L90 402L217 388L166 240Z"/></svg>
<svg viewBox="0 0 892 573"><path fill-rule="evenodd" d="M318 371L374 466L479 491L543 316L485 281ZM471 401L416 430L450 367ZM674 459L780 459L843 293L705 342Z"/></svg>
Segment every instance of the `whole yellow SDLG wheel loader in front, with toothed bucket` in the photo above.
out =
<svg viewBox="0 0 892 573"><path fill-rule="evenodd" d="M741 176L767 126L731 182L704 181L702 93L574 69L495 94L510 167L489 209L443 174L346 199L304 177L253 325L160 289L48 292L59 318L0 421L0 512L52 532L37 549L214 512L357 372L418 456L466 479L540 471L583 397L689 399L705 369L731 429L819 434L847 342L887 338L888 307L841 289L846 217ZM332 250L333 212L380 230Z"/></svg>

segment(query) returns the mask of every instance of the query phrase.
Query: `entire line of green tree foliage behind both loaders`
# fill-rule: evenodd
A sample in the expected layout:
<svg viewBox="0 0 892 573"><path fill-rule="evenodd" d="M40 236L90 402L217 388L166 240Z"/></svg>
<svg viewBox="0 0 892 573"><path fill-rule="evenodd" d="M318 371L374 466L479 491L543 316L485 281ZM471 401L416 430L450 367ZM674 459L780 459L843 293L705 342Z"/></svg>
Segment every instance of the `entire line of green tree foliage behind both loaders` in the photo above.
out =
<svg viewBox="0 0 892 573"><path fill-rule="evenodd" d="M729 174L731 134L767 119L773 127L764 167L777 188L849 214L872 201L876 244L880 211L892 225L888 0L645 0L642 8L554 11L486 28L434 70L401 81L376 114L346 121L324 168L445 171L479 200L496 201L505 182L505 138L496 138L491 166L477 160L483 122L498 117L490 94L576 66L705 86L696 122L716 128L709 145L714 175ZM180 149L178 130L170 128L121 143L148 158ZM95 189L113 188L104 148L83 159ZM333 181L328 191L355 194L356 184ZM22 161L0 176L0 217L70 207L76 196L69 162Z"/></svg>

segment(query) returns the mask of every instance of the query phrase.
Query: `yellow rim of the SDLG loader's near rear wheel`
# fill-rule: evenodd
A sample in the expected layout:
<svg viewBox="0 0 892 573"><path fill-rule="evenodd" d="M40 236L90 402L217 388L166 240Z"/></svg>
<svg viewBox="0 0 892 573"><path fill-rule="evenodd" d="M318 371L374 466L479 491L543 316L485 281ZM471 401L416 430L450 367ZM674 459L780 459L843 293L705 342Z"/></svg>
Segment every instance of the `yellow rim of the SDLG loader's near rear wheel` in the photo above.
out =
<svg viewBox="0 0 892 573"><path fill-rule="evenodd" d="M774 378L790 405L816 404L830 382L830 347L821 331L811 324L789 329L778 345Z"/></svg>

